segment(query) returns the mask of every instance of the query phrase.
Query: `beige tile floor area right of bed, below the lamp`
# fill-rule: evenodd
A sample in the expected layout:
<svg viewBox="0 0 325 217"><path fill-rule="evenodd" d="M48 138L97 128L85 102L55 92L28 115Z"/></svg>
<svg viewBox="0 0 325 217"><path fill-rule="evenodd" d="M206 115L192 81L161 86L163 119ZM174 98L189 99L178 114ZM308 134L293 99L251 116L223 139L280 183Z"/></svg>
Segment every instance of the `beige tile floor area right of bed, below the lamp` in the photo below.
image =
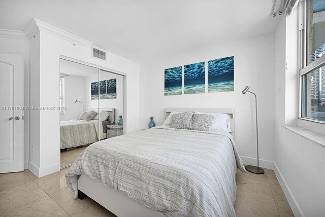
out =
<svg viewBox="0 0 325 217"><path fill-rule="evenodd" d="M244 173L236 175L237 216L294 216L273 170L265 174Z"/></svg>

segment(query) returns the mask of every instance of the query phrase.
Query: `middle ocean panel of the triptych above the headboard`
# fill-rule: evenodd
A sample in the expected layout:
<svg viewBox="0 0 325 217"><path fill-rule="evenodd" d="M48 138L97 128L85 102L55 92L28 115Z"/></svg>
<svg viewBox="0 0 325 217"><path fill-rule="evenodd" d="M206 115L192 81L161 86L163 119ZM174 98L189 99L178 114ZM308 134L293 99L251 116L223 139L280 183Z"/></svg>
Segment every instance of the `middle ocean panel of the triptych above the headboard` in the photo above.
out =
<svg viewBox="0 0 325 217"><path fill-rule="evenodd" d="M205 93L205 62L184 65L184 93Z"/></svg>

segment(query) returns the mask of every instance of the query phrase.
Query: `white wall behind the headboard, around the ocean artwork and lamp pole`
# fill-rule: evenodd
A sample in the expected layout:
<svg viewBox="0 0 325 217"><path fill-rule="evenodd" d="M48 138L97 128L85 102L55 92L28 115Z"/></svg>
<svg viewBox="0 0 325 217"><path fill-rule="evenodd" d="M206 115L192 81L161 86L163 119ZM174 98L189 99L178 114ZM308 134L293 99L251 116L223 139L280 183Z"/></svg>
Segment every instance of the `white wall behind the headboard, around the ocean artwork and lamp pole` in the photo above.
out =
<svg viewBox="0 0 325 217"><path fill-rule="evenodd" d="M235 91L164 96L164 70L190 63L235 56ZM241 91L250 86L258 99L260 158L273 160L274 34L262 35L141 64L140 128L164 121L166 107L231 107L239 154L256 157L255 99Z"/></svg>

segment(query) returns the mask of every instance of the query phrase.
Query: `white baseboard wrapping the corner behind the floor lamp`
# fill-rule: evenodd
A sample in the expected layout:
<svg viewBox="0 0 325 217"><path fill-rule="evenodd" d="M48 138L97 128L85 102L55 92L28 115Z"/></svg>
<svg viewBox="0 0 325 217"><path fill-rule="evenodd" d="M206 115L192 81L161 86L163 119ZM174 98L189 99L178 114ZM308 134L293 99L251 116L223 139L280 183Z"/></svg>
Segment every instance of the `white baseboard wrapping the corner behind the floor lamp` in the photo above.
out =
<svg viewBox="0 0 325 217"><path fill-rule="evenodd" d="M251 157L245 157L245 156L240 156L240 157L244 164L257 166L257 158L251 158ZM274 170L274 173L275 173L277 179L279 180L279 183L280 183L280 186L284 192L284 195L285 195L291 209L293 210L295 216L296 217L305 217L303 211L301 210L299 204L297 203L297 200L295 199L289 186L285 182L285 179L284 179L280 169L276 165L276 163L273 161L269 161L269 160L259 159L259 166Z"/></svg>

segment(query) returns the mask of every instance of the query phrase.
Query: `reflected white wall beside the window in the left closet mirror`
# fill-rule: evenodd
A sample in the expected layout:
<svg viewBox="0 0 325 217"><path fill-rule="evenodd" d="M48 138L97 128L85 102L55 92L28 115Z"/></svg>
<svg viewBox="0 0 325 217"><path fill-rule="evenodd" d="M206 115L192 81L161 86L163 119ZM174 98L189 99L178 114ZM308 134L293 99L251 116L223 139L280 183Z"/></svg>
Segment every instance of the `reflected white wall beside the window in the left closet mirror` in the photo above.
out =
<svg viewBox="0 0 325 217"><path fill-rule="evenodd" d="M84 101L83 80L84 78L80 76L64 77L64 106L67 110L60 116L60 121L77 119L82 113L82 103L75 103L75 100Z"/></svg>

